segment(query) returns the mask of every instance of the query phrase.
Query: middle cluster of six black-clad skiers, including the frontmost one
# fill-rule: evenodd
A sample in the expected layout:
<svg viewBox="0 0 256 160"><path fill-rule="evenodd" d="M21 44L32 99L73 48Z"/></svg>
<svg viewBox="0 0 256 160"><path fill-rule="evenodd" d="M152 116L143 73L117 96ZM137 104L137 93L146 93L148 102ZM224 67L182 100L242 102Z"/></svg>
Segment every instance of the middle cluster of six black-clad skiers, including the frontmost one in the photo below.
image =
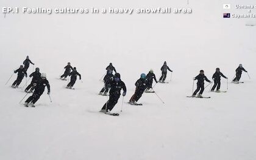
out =
<svg viewBox="0 0 256 160"><path fill-rule="evenodd" d="M123 81L121 81L120 74L116 72L115 67L113 67L112 63L108 65L106 68L107 74L104 76L104 87L99 92L99 95L107 95L108 90L109 92L109 99L104 104L100 112L110 112L115 104L118 102L118 99L121 95L121 89L123 89L123 96L126 96L126 85ZM165 82L167 70L171 71L169 67L166 65L166 61L164 62L163 66L161 67L162 76L159 82ZM113 71L115 71L115 75L113 75ZM131 105L142 105L137 104L137 101L141 98L144 92L146 93L154 93L152 83L153 80L158 83L157 79L155 78L154 71L151 69L148 75L141 73L140 79L135 82L135 93L130 98L129 104Z"/></svg>

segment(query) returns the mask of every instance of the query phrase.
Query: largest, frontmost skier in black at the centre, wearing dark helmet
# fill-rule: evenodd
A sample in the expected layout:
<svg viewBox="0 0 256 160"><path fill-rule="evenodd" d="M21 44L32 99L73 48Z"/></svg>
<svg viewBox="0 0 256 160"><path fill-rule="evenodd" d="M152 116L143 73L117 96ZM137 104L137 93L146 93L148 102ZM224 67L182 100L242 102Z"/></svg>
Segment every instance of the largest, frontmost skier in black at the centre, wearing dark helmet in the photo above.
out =
<svg viewBox="0 0 256 160"><path fill-rule="evenodd" d="M123 89L123 96L126 96L126 85L123 81L121 81L119 73L115 74L113 81L110 82L110 85L111 88L109 92L109 100L101 108L100 112L108 112L108 110L111 111L113 109L121 95L121 89Z"/></svg>

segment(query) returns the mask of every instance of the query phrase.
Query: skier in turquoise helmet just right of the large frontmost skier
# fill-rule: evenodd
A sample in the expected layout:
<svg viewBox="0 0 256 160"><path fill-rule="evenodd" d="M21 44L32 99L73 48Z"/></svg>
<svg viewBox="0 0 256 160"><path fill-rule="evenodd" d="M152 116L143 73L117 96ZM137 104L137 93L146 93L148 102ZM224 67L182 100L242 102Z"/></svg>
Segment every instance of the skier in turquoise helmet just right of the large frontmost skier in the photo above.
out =
<svg viewBox="0 0 256 160"><path fill-rule="evenodd" d="M135 82L136 85L136 89L135 89L135 93L132 96L132 98L130 98L130 104L137 104L138 100L141 98L144 90L146 90L147 88L147 79L146 79L146 75L144 73L142 73L140 75L140 79L138 79Z"/></svg>

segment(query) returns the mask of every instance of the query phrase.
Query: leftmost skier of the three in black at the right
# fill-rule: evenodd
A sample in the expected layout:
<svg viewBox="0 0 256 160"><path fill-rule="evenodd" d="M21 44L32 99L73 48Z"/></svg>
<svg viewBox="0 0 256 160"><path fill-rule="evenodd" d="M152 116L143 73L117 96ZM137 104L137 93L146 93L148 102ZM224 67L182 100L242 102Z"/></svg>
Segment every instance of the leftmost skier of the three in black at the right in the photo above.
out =
<svg viewBox="0 0 256 160"><path fill-rule="evenodd" d="M195 78L193 78L193 80L196 80L196 79L197 79L197 88L193 93L192 97L195 97L196 93L199 92L199 90L201 89L197 97L202 98L202 93L204 92L204 80L209 83L212 83L212 82L209 79L207 79L207 77L204 75L204 70L200 70L200 74Z"/></svg>

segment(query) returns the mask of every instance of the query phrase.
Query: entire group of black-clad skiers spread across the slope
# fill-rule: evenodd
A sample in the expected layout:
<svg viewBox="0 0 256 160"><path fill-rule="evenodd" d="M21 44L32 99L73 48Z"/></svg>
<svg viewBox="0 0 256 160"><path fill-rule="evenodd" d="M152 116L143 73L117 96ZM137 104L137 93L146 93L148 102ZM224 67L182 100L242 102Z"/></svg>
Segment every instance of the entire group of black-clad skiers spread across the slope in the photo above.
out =
<svg viewBox="0 0 256 160"><path fill-rule="evenodd" d="M33 64L29 56L25 59L23 62L24 66L21 65L20 68L14 71L14 73L18 73L17 79L15 82L13 82L12 87L17 88L21 81L23 80L24 76L27 77L27 69L29 68L29 64ZM62 76L60 76L60 79L66 80L68 76L71 76L70 82L66 86L66 88L73 88L73 85L76 83L77 76L79 76L79 79L81 79L80 73L77 72L76 67L72 67L70 62L68 62L68 65L64 67L65 72L63 73ZM113 109L115 104L118 102L118 99L121 95L121 90L123 90L122 95L126 96L126 85L124 84L123 81L121 81L121 75L116 72L115 67L113 67L113 64L110 63L106 68L107 73L104 76L104 87L101 89L99 92L99 95L104 95L106 96L108 91L109 91L109 99L108 101L104 104L102 107L102 110L100 112L109 112ZM138 79L135 82L135 93L132 95L130 98L129 104L132 105L142 105L138 104L138 100L141 98L143 93L154 93L152 83L155 81L155 83L162 82L165 83L166 75L168 70L172 72L172 70L168 67L166 64L166 61L164 62L163 66L161 67L162 75L157 81L157 78L155 77L154 71L151 69L149 70L149 73L146 75L144 73L141 73L140 79ZM234 83L239 83L241 74L242 72L247 72L244 68L243 65L240 64L238 68L236 68L236 76L233 79L232 82ZM115 75L113 75L113 72L115 72ZM213 74L212 79L214 81L214 85L211 88L211 92L215 91L216 92L221 92L219 88L221 87L221 76L223 78L228 79L226 76L224 76L219 68L216 68L216 72ZM45 73L40 73L40 68L35 68L35 72L31 73L29 75L30 78L32 78L32 81L30 84L26 87L25 92L27 93L33 93L32 96L30 96L26 101L25 101L25 106L28 107L29 104L32 107L35 107L34 104L35 102L38 101L40 96L44 92L44 88L48 88L48 95L50 94L50 85L48 80L46 79L46 74ZM199 75L197 75L193 80L197 80L197 88L193 92L193 95L191 97L197 97L197 98L203 98L202 93L204 92L204 81L212 83L207 77L204 75L204 70L201 70ZM199 92L199 94L196 96L196 94Z"/></svg>

